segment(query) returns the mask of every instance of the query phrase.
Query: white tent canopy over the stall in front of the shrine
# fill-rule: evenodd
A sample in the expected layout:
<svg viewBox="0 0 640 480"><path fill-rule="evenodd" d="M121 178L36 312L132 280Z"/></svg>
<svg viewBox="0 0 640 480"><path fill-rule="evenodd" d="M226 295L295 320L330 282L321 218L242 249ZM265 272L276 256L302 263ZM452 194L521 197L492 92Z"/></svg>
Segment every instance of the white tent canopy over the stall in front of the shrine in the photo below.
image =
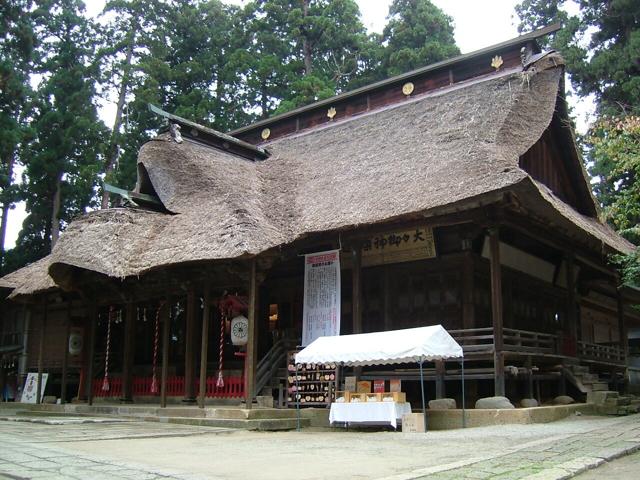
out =
<svg viewBox="0 0 640 480"><path fill-rule="evenodd" d="M388 332L320 337L296 355L296 363L389 365L462 358L462 347L442 325Z"/></svg>

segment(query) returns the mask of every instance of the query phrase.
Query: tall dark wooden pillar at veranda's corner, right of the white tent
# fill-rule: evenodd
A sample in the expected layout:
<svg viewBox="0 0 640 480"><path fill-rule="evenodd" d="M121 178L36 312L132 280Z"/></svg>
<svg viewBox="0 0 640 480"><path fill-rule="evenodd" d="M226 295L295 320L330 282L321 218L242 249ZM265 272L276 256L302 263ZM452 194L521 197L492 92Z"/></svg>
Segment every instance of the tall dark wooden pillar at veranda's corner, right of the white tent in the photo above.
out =
<svg viewBox="0 0 640 480"><path fill-rule="evenodd" d="M502 271L500 267L500 237L497 228L489 230L489 246L491 250L491 317L493 320L493 364L494 364L494 394L503 397L504 384L504 356L503 349L503 318L502 318Z"/></svg>

